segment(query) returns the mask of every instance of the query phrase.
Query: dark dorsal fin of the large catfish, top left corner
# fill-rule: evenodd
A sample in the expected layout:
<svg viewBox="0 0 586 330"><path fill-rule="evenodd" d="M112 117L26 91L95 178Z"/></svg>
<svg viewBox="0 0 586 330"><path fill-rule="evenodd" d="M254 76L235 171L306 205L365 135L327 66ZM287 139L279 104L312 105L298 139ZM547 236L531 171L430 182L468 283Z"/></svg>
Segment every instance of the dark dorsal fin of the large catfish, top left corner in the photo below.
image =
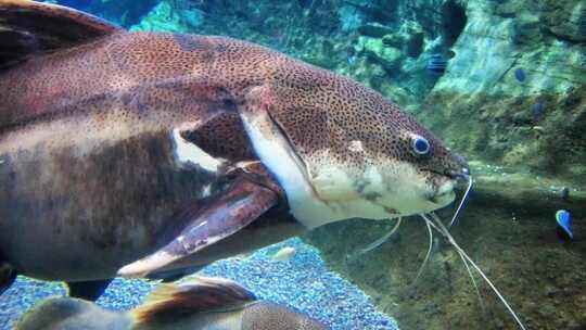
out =
<svg viewBox="0 0 586 330"><path fill-rule="evenodd" d="M38 53L69 48L122 30L71 8L30 0L0 0L0 69Z"/></svg>

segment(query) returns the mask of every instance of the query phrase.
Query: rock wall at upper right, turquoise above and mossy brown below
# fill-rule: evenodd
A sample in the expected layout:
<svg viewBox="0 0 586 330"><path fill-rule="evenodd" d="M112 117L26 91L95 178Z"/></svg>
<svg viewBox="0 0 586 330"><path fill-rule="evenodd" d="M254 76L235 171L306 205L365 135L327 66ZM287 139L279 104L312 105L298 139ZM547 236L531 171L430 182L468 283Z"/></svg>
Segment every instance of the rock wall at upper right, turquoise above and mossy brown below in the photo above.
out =
<svg viewBox="0 0 586 330"><path fill-rule="evenodd" d="M586 175L586 42L579 1L468 1L455 58L416 110L469 157Z"/></svg>

